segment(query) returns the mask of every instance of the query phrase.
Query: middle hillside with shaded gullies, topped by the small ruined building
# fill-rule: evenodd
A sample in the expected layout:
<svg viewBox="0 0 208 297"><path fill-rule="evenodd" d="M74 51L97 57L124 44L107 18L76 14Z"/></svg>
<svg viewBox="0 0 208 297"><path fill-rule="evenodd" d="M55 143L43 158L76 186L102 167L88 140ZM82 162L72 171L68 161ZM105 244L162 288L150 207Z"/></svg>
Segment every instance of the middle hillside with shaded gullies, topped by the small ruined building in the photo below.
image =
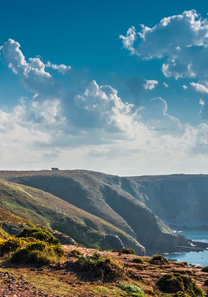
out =
<svg viewBox="0 0 208 297"><path fill-rule="evenodd" d="M186 244L133 196L136 191L126 178L82 170L1 171L0 177L44 190L103 218L136 237L147 249L160 251L169 245L170 250L171 245ZM138 195L144 196L141 191Z"/></svg>

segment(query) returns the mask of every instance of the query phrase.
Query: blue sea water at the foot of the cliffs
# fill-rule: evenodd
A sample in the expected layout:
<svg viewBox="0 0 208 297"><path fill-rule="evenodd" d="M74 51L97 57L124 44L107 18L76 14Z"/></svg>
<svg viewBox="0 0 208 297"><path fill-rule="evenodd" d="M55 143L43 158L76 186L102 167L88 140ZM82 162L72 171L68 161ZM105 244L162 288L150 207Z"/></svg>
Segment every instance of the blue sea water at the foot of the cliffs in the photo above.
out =
<svg viewBox="0 0 208 297"><path fill-rule="evenodd" d="M208 231L181 231L176 232L177 234L185 235L186 238L191 239L193 241L202 241L208 243ZM187 262L189 265L197 265L197 266L207 266L208 265L208 251L204 252L190 252L190 253L173 253L173 254L163 254L167 259L177 259L178 262Z"/></svg>

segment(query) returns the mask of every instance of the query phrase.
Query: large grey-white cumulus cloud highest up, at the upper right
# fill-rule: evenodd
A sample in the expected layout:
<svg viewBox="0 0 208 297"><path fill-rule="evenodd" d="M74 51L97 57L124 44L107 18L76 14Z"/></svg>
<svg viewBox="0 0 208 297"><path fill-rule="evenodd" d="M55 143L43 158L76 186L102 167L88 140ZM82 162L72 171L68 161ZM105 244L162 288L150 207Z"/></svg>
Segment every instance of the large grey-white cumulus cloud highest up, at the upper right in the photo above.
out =
<svg viewBox="0 0 208 297"><path fill-rule="evenodd" d="M137 36L141 40L135 46ZM152 28L142 25L138 33L132 27L120 38L131 54L144 60L165 59L162 71L166 77L208 79L208 19L201 18L196 10L163 18Z"/></svg>

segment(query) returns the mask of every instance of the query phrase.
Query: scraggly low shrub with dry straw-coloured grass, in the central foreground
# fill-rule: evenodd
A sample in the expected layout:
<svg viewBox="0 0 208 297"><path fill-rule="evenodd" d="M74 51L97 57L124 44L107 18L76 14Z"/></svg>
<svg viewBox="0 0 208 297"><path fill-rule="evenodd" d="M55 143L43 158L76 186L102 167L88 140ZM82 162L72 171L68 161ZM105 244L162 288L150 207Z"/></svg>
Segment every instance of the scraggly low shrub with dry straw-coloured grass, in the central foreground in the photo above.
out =
<svg viewBox="0 0 208 297"><path fill-rule="evenodd" d="M94 252L92 256L80 256L74 268L82 270L92 279L101 279L110 282L125 272L124 266L117 259L101 256Z"/></svg>

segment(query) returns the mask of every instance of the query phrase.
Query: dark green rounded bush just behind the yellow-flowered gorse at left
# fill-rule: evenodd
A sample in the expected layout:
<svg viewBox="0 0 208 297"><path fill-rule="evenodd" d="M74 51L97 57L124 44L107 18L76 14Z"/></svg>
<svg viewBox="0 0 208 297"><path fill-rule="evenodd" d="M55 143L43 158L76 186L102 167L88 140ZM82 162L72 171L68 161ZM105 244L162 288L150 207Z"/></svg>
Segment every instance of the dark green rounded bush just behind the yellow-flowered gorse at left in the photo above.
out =
<svg viewBox="0 0 208 297"><path fill-rule="evenodd" d="M53 236L53 234L47 230L42 230L42 229L24 229L21 233L16 235L16 237L34 237L36 239L45 241L48 244L52 245L59 245L59 240Z"/></svg>

